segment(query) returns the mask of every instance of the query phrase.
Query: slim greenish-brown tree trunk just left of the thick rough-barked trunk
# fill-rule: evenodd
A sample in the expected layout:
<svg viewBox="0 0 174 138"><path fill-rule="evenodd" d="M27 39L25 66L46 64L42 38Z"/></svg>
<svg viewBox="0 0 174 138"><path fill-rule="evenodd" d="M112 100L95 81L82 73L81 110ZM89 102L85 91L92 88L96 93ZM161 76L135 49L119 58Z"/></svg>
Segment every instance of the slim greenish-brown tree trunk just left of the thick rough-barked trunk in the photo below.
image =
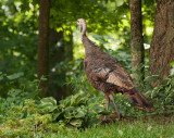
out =
<svg viewBox="0 0 174 138"><path fill-rule="evenodd" d="M130 0L130 47L132 47L132 77L144 79L145 49L142 38L141 0ZM141 74L141 76L140 76ZM139 83L137 83L139 84Z"/></svg>

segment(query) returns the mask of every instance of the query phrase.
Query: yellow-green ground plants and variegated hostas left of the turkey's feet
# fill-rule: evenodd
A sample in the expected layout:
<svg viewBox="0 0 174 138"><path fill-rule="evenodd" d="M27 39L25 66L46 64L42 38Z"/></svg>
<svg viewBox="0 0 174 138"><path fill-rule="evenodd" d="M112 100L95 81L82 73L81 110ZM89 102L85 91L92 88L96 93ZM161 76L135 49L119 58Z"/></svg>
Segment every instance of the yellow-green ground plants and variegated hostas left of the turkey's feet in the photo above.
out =
<svg viewBox="0 0 174 138"><path fill-rule="evenodd" d="M103 99L87 93L77 93L59 104L53 98L40 101L26 99L20 104L1 105L5 111L0 114L0 137L44 137L47 133L84 128L99 124L104 111Z"/></svg>

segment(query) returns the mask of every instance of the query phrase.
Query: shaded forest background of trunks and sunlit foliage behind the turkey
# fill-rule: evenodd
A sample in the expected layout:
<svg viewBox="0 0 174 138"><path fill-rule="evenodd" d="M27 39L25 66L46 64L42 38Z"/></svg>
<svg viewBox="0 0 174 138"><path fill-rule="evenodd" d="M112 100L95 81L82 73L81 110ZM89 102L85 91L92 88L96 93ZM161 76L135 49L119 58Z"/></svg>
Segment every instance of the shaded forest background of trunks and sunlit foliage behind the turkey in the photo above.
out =
<svg viewBox="0 0 174 138"><path fill-rule="evenodd" d="M137 2L1 0L0 96L7 98L9 91L32 80L38 83L41 97L57 100L80 91L101 95L84 73L84 48L76 26L82 17L89 38L126 67L139 89L148 91L159 85L173 75L174 2ZM133 17L138 15L136 23Z"/></svg>

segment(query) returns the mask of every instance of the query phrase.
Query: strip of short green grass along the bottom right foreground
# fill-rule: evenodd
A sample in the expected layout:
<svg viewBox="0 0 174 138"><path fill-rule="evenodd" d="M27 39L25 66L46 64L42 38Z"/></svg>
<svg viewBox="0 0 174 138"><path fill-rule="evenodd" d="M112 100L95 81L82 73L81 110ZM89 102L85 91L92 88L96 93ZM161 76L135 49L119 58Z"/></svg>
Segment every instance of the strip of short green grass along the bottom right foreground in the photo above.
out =
<svg viewBox="0 0 174 138"><path fill-rule="evenodd" d="M174 123L161 123L149 120L115 122L110 125L86 128L84 130L59 131L57 135L46 135L49 138L174 138Z"/></svg>

